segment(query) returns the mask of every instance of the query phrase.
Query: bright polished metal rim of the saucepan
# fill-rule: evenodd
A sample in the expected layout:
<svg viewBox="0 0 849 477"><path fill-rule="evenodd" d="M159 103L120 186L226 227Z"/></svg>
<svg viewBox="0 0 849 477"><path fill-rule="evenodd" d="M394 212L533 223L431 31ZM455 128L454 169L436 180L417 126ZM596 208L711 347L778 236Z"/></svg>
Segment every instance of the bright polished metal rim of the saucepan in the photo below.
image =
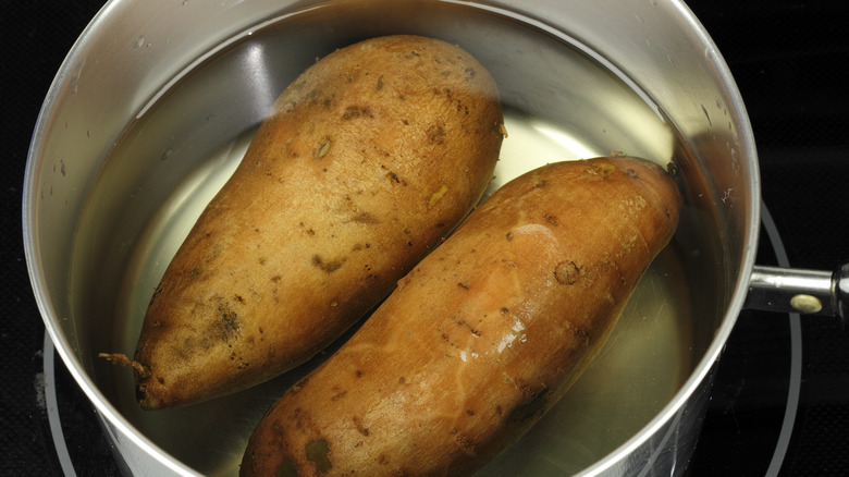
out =
<svg viewBox="0 0 849 477"><path fill-rule="evenodd" d="M656 0L653 0L653 3L654 2L656 2ZM35 183L35 176L38 162L40 161L38 154L42 137L45 135L46 124L51 115L54 103L59 100L59 85L65 83L67 78L72 76L74 64L76 64L77 60L79 59L81 51L89 40L90 32L98 28L99 24L107 22L113 14L113 11L118 10L118 5L120 3L121 0L109 0L82 32L62 62L53 82L48 89L47 96L39 111L33 137L30 139L24 174L22 204L24 255L27 268L29 270L29 280L33 288L34 297L38 306L39 314L45 323L46 331L54 343L56 352L59 353L73 379L77 382L79 388L99 413L98 417L101 421L101 425L104 427L111 427L113 430L115 430L118 433L112 433L119 439L122 437L127 439L128 442L115 442L119 450L122 451L122 456L127 457L127 455L123 454L125 449L122 449L122 444L124 448L126 445L135 445L147 456L155 458L159 464L179 475L197 476L199 475L198 473L171 456L163 449L153 443L148 437L136 429L135 426L133 426L109 402L109 400L102 394L98 386L85 370L85 366L83 365L82 360L73 352L74 346L67 337L65 337L64 333L62 333L59 329L58 322L61 320L61 317L59 317L57 314L53 304L48 296L45 276L42 273L40 264L41 257L38 253L38 245L35 241L35 237L38 233L37 224L34 220L35 195L38 191L38 185ZM698 40L705 47L705 51L711 51L715 66L715 71L712 73L715 75L715 80L725 88L725 91L731 99L728 113L734 117L736 124L739 126L741 147L745 151L748 166L747 179L750 194L747 197L745 209L745 212L748 216L746 218L746 229L742 231L745 235L742 243L746 245L733 292L728 303L726 304L725 314L722 318L721 325L716 329L706 352L701 356L698 365L690 372L687 380L678 389L674 397L666 405L664 405L661 412L659 412L645 426L643 426L639 431L637 431L627 441L617 447L606 456L583 469L579 475L598 475L612 470L617 463L624 461L629 454L632 454L638 448L643 445L650 437L662 431L664 426L668 425L668 423L672 423L675 419L675 416L680 413L682 408L685 408L693 393L696 393L697 390L703 386L703 382L709 378L707 375L714 368L714 364L719 359L725 343L730 335L731 330L734 329L737 317L743 308L743 303L748 292L749 279L752 274L752 269L755 261L756 244L760 232L760 172L758 169L758 155L753 133L746 107L742 101L742 97L725 60L716 48L716 45L711 39L703 25L696 19L692 11L685 4L682 0L667 0L667 7L674 10L674 14L676 17L678 17L678 20L687 24L691 33L693 33Z"/></svg>

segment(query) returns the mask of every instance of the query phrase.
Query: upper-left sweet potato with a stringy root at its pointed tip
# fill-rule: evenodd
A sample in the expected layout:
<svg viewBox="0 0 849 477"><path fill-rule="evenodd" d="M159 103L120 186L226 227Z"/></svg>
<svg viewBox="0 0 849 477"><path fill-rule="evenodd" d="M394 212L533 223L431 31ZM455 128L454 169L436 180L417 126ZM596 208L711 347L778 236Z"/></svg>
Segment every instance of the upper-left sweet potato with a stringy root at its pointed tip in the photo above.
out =
<svg viewBox="0 0 849 477"><path fill-rule="evenodd" d="M156 289L140 406L238 391L315 355L468 213L502 137L496 86L458 47L379 37L310 66Z"/></svg>

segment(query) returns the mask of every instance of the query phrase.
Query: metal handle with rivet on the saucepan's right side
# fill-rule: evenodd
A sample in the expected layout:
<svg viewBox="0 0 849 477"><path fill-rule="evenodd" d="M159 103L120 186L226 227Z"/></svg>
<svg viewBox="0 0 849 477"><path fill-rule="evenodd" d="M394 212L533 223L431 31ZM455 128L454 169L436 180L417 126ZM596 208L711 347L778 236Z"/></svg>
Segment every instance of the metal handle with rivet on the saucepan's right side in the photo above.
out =
<svg viewBox="0 0 849 477"><path fill-rule="evenodd" d="M743 307L839 317L849 328L849 262L834 272L755 265Z"/></svg>

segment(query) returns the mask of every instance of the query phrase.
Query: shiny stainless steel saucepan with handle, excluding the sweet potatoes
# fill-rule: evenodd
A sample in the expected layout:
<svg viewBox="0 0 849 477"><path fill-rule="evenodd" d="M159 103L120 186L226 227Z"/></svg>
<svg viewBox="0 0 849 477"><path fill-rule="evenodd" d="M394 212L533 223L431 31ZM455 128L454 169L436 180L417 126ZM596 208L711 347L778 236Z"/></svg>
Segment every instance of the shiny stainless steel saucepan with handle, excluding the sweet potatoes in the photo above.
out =
<svg viewBox="0 0 849 477"><path fill-rule="evenodd" d="M47 94L23 223L47 330L127 474L236 474L263 412L333 352L156 412L138 408L127 369L98 357L132 354L170 257L285 86L335 48L397 33L457 44L495 77L508 137L492 188L545 162L625 152L673 162L685 196L604 350L480 475L680 475L743 307L846 319L849 267L754 264L754 137L679 0L111 0Z"/></svg>

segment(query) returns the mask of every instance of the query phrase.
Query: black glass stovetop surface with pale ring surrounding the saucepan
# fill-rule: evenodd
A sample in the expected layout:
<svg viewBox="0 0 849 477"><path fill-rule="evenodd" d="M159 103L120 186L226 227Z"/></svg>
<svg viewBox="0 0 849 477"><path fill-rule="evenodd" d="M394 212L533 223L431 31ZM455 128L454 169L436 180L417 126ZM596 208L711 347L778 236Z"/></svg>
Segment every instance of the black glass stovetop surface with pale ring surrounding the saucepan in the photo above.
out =
<svg viewBox="0 0 849 477"><path fill-rule="evenodd" d="M649 1L649 0L647 0ZM45 94L102 0L4 2L0 475L116 475L93 407L45 340L21 236ZM690 0L735 75L761 160L760 265L849 260L849 3ZM849 332L743 311L687 475L849 475Z"/></svg>

